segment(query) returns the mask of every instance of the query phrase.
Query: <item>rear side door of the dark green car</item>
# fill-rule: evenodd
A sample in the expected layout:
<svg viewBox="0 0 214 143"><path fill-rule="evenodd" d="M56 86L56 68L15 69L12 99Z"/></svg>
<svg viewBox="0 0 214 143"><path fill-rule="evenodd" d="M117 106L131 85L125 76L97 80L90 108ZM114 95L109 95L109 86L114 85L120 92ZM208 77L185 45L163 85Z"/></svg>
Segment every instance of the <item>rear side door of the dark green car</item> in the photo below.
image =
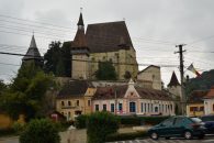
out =
<svg viewBox="0 0 214 143"><path fill-rule="evenodd" d="M174 123L172 125L172 134L173 135L182 135L184 131L184 118L178 117L174 119Z"/></svg>

